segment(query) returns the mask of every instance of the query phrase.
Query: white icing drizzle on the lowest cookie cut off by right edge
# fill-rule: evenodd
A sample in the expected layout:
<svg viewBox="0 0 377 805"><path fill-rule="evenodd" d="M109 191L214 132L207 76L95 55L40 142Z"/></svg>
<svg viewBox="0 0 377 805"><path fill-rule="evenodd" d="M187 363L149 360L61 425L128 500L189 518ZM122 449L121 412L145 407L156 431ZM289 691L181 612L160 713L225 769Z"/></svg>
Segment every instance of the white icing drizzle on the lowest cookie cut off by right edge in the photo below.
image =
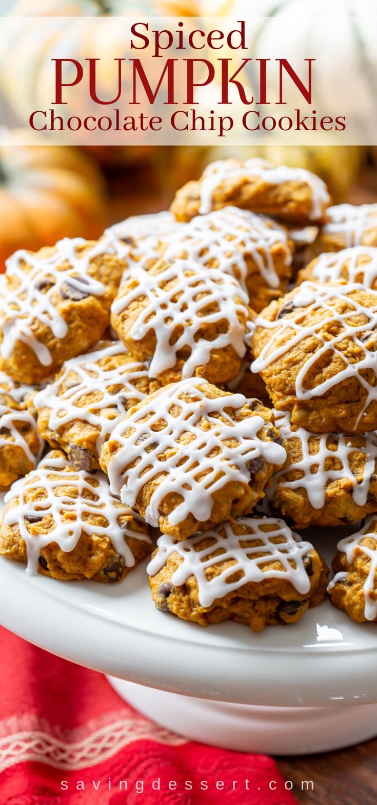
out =
<svg viewBox="0 0 377 805"><path fill-rule="evenodd" d="M363 528L359 530L357 534L353 534L350 537L341 539L337 546L338 551L342 551L342 553L346 554L348 564L353 564L354 559L356 559L358 554L364 554L368 557L368 559L371 559L371 566L369 568L367 579L363 584L365 601L364 615L367 621L375 621L377 618L377 535L375 534L375 531L372 530L373 525L375 525L375 514L371 514L371 516L367 518ZM370 537L371 539L375 540L375 548L361 544L363 539L366 537ZM337 573L334 576L334 579L329 583L327 588L329 592L334 587L334 584L337 584L338 581L346 579L347 575L348 574L346 572Z"/></svg>

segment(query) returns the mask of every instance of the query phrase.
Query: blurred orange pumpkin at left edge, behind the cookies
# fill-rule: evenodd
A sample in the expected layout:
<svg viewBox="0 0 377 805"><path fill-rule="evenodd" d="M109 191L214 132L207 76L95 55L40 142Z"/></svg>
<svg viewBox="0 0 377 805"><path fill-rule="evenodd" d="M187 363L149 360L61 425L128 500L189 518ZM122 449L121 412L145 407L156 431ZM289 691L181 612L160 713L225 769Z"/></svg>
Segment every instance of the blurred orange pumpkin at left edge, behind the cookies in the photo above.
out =
<svg viewBox="0 0 377 805"><path fill-rule="evenodd" d="M16 249L96 238L106 223L106 185L88 155L68 146L0 145L0 270Z"/></svg>

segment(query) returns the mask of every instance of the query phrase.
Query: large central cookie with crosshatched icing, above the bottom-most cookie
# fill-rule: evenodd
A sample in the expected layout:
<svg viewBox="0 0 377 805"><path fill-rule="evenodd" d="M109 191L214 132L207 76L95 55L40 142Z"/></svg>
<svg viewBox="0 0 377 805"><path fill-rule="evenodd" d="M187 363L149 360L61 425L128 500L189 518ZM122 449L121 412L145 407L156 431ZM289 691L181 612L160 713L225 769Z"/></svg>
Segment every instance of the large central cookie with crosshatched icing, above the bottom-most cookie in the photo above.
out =
<svg viewBox="0 0 377 805"><path fill-rule="evenodd" d="M114 494L176 539L250 512L286 452L271 411L201 378L131 409L102 447Z"/></svg>

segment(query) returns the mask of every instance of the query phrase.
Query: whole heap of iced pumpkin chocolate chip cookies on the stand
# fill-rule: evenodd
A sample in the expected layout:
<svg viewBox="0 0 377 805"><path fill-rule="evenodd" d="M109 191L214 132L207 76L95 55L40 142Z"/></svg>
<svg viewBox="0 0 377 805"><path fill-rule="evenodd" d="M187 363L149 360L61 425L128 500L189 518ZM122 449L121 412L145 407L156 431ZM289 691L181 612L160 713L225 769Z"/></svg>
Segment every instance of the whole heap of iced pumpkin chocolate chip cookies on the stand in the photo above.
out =
<svg viewBox="0 0 377 805"><path fill-rule="evenodd" d="M3 556L110 583L154 551L158 609L259 631L327 594L290 526L369 515L329 597L377 619L377 213L330 203L308 171L224 160L170 212L10 258Z"/></svg>

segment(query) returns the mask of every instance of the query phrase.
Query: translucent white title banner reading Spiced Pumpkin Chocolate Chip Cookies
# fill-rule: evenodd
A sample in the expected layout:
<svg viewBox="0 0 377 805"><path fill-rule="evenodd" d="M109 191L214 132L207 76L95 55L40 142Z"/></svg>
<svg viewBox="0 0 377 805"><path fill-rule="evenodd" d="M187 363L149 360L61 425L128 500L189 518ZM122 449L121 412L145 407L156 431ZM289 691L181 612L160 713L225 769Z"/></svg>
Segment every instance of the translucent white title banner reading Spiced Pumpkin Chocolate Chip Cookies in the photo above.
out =
<svg viewBox="0 0 377 805"><path fill-rule="evenodd" d="M2 141L16 127L94 146L377 144L377 16L341 0L331 15L231 5L231 18L3 17Z"/></svg>

